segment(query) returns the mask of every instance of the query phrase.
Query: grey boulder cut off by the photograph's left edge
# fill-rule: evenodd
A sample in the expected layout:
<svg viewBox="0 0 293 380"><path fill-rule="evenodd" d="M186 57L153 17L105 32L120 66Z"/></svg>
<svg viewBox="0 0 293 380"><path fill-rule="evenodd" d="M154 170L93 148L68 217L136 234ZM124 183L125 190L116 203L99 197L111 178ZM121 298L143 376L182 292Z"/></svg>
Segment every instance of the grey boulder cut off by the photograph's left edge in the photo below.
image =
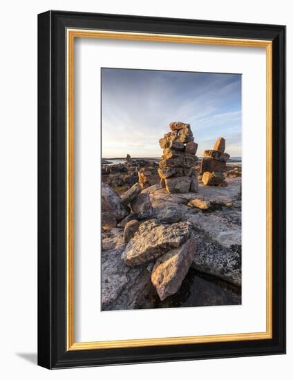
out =
<svg viewBox="0 0 293 380"><path fill-rule="evenodd" d="M104 211L110 211L118 222L129 214L122 205L120 196L108 184L102 183L102 212Z"/></svg>

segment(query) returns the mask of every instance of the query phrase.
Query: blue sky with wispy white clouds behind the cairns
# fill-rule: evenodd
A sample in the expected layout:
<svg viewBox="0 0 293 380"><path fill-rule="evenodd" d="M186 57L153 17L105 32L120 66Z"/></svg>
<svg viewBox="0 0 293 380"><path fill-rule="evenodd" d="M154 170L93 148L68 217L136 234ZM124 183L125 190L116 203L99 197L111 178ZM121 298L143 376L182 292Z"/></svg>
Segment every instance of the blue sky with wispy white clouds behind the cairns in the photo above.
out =
<svg viewBox="0 0 293 380"><path fill-rule="evenodd" d="M222 136L241 156L241 75L102 68L102 157L160 157L177 121L191 124L197 155Z"/></svg>

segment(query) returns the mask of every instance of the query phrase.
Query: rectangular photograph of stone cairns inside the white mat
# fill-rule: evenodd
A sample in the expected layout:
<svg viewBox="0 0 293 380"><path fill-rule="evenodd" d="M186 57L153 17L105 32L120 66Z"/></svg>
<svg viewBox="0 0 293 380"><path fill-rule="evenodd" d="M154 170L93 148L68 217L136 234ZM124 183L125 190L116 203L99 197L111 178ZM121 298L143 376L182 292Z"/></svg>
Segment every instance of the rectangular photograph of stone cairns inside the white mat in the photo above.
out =
<svg viewBox="0 0 293 380"><path fill-rule="evenodd" d="M242 75L100 75L101 311L241 305Z"/></svg>

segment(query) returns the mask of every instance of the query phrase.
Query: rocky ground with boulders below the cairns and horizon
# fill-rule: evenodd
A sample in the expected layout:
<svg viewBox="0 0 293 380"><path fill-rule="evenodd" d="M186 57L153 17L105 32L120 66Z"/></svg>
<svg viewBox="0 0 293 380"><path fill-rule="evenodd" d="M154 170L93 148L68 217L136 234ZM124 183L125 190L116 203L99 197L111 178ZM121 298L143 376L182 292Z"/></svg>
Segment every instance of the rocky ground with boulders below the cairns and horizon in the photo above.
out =
<svg viewBox="0 0 293 380"><path fill-rule="evenodd" d="M103 165L102 310L241 303L240 165L227 164L227 186L169 194L144 161Z"/></svg>

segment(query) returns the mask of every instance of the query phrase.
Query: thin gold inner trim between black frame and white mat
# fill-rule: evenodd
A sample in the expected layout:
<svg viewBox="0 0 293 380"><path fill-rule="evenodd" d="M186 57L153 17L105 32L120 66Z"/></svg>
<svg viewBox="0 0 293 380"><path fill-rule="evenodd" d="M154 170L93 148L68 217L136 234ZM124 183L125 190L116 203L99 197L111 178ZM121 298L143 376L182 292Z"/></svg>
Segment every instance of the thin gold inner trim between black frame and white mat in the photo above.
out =
<svg viewBox="0 0 293 380"><path fill-rule="evenodd" d="M272 41L257 39L233 39L184 35L163 35L133 32L109 32L105 30L66 30L67 37L67 350L98 350L102 348L131 348L152 345L176 345L224 341L252 341L272 339ZM205 44L219 46L246 46L266 49L266 146L267 146L267 252L266 252L266 331L240 334L199 336L174 336L169 338L127 339L120 341L74 341L74 42L75 38L126 39L133 41L157 41L181 44Z"/></svg>

